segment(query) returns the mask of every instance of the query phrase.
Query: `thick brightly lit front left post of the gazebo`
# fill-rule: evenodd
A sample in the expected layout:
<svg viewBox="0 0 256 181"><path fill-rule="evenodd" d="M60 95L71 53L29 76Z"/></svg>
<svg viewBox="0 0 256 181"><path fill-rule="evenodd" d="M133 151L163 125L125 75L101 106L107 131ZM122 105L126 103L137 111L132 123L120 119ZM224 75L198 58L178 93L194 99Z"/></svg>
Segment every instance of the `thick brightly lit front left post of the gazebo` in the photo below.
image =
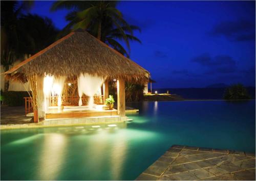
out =
<svg viewBox="0 0 256 181"><path fill-rule="evenodd" d="M44 94L44 76L37 76L37 111L38 121L45 119L45 94Z"/></svg>

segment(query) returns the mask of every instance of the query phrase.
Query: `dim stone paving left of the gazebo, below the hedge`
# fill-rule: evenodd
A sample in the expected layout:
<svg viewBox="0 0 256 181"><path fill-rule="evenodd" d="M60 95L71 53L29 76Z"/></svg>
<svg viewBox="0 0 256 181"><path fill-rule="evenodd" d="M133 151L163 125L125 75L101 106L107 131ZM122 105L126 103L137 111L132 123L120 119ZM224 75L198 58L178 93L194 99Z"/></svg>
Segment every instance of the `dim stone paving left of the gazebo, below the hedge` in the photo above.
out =
<svg viewBox="0 0 256 181"><path fill-rule="evenodd" d="M25 115L25 107L1 106L1 124L28 124L33 123L33 117Z"/></svg>

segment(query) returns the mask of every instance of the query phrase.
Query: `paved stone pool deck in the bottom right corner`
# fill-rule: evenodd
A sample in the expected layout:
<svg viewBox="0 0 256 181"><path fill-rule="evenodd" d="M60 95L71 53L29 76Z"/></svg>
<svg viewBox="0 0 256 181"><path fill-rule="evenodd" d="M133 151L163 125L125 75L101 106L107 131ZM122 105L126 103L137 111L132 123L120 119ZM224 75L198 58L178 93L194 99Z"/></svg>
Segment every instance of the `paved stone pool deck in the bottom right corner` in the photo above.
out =
<svg viewBox="0 0 256 181"><path fill-rule="evenodd" d="M173 145L136 180L255 180L255 153Z"/></svg>

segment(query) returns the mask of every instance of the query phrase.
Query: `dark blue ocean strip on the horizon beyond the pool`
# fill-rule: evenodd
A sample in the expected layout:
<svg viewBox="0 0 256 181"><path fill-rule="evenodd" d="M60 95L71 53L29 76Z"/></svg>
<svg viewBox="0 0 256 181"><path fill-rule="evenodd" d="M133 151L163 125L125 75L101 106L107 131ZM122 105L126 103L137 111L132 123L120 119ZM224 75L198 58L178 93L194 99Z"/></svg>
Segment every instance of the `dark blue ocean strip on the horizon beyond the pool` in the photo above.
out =
<svg viewBox="0 0 256 181"><path fill-rule="evenodd" d="M185 99L223 99L226 88L161 88L152 89L153 92L178 94ZM252 99L255 99L255 87L247 87Z"/></svg>

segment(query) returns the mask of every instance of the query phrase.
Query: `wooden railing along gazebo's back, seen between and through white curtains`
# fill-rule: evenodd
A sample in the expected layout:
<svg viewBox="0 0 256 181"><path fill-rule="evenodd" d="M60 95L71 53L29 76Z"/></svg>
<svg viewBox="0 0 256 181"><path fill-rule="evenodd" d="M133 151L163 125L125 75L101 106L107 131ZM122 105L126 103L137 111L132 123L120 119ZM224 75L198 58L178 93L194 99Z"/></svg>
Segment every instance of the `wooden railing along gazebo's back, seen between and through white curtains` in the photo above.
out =
<svg viewBox="0 0 256 181"><path fill-rule="evenodd" d="M94 104L102 105L104 104L104 96L103 95L95 95ZM78 96L62 96L62 106L78 106L79 97ZM89 96L83 95L82 96L82 105L87 106L89 104ZM58 96L51 96L50 98L50 105L51 106L58 106Z"/></svg>

